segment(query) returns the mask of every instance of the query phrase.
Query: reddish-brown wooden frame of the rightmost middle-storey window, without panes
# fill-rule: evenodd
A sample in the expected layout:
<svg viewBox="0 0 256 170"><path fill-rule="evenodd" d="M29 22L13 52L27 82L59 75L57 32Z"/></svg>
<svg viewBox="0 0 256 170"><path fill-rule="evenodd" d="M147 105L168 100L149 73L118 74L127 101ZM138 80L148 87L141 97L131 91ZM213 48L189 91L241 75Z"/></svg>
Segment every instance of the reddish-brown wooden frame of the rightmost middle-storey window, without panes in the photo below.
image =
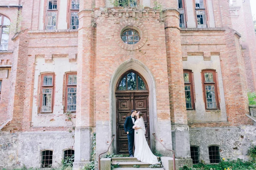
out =
<svg viewBox="0 0 256 170"><path fill-rule="evenodd" d="M205 77L204 77L204 73L212 73L212 77L213 77L213 82L205 82ZM213 69L204 69L201 71L201 76L202 76L202 85L203 85L203 94L204 94L204 105L205 105L205 109L210 111L210 110L220 110L220 105L219 105L219 100L218 100L218 82L216 79L216 70ZM216 108L207 108L207 96L206 96L206 90L205 90L205 86L206 85L214 85L214 94L215 94L215 102L216 102Z"/></svg>

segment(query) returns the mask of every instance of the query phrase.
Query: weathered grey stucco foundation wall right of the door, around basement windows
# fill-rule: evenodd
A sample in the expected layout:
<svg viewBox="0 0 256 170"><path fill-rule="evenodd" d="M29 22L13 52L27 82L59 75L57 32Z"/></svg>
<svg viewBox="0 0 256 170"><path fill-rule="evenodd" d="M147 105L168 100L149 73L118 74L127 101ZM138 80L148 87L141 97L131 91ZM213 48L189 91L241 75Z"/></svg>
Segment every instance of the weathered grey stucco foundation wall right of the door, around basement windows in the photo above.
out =
<svg viewBox="0 0 256 170"><path fill-rule="evenodd" d="M247 160L248 149L256 144L256 126L190 128L190 145L199 147L199 159L209 161L208 147L218 145L221 158Z"/></svg>

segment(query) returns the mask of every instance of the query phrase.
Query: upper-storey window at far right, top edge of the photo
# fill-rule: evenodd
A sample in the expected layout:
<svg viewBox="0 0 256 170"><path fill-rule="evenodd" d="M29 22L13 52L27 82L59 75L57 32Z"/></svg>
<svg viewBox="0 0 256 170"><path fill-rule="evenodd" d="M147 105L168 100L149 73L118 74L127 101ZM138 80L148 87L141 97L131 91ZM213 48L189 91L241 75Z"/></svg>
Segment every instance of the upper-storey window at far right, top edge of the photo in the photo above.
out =
<svg viewBox="0 0 256 170"><path fill-rule="evenodd" d="M195 13L198 28L207 28L207 15L204 0L195 0Z"/></svg>

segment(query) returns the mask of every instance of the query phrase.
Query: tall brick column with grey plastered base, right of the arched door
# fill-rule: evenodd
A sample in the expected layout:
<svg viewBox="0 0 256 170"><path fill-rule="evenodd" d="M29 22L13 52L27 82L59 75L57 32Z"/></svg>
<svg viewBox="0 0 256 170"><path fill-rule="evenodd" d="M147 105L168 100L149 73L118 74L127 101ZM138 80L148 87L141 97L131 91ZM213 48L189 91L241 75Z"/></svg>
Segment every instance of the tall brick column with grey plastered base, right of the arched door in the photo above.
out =
<svg viewBox="0 0 256 170"><path fill-rule="evenodd" d="M177 8L177 1L175 4L170 8ZM187 158L190 157L190 144L184 96L179 12L175 9L167 9L163 11L163 19L165 22L169 99L173 130L172 147L177 158Z"/></svg>

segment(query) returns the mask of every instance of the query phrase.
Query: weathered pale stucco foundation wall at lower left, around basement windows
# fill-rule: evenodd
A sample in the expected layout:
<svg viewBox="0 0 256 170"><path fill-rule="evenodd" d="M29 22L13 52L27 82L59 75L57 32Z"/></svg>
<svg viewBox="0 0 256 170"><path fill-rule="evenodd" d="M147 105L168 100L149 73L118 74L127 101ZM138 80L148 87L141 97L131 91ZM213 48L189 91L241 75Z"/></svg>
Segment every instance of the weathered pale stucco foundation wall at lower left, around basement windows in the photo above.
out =
<svg viewBox="0 0 256 170"><path fill-rule="evenodd" d="M71 148L75 148L73 132L0 132L0 169L13 169L23 165L39 167L42 150L53 151L52 166L58 167L64 157L64 150Z"/></svg>

